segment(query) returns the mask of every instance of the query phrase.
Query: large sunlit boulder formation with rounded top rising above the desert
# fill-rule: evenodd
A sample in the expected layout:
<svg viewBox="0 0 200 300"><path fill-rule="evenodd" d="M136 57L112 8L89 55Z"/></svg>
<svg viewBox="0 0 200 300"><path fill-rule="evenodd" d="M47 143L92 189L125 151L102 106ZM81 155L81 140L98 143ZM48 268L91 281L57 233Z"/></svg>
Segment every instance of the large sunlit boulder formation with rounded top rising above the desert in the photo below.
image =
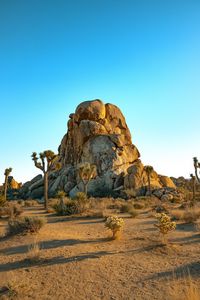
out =
<svg viewBox="0 0 200 300"><path fill-rule="evenodd" d="M63 189L74 196L83 187L77 176L77 164L89 162L97 167L97 177L89 183L88 192L94 196L120 193L121 190L135 190L137 195L145 194L148 176L140 161L140 153L132 144L131 134L120 109L101 100L81 103L75 113L70 114L67 133L59 146L62 169L49 178L49 193ZM43 179L25 184L29 197L42 196ZM151 174L152 189L175 188L172 180Z"/></svg>

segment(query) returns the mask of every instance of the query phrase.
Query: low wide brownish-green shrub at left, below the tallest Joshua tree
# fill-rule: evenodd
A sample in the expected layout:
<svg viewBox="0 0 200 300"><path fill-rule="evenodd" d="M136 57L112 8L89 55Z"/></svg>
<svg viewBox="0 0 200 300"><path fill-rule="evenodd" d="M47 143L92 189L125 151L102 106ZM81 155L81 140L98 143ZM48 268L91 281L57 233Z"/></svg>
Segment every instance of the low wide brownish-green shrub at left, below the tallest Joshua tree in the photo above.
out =
<svg viewBox="0 0 200 300"><path fill-rule="evenodd" d="M8 235L37 233L46 223L44 217L23 217L8 222Z"/></svg>

